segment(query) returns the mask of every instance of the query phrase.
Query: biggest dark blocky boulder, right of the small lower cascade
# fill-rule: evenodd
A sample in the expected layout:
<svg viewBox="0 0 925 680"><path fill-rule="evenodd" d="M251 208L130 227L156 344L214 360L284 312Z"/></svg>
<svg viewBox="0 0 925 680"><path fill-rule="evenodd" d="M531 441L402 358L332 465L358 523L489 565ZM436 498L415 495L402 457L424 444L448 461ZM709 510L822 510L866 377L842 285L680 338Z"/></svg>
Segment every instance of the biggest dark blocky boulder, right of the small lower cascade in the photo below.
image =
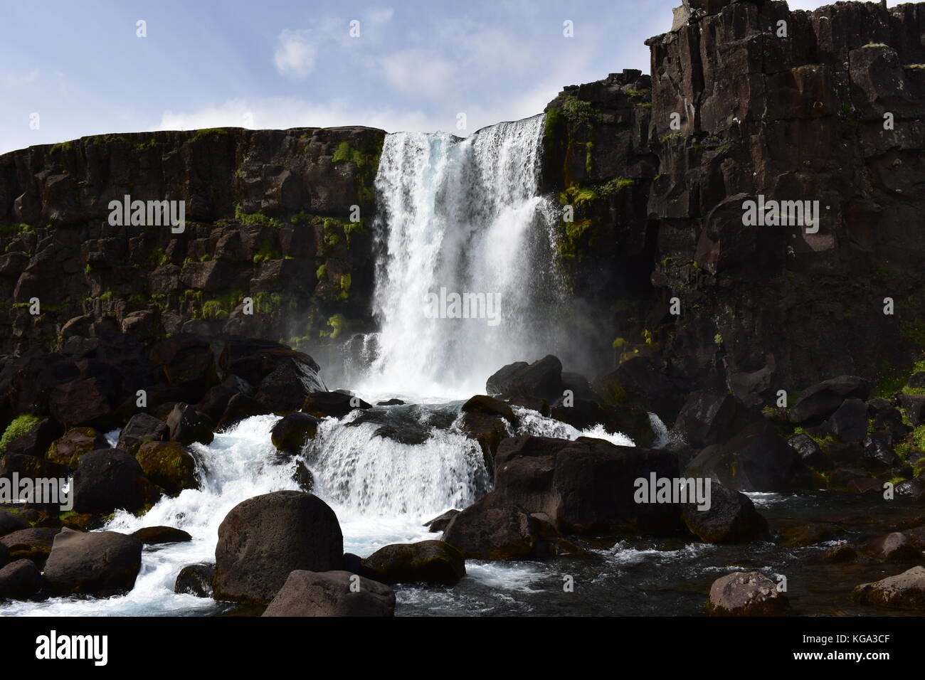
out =
<svg viewBox="0 0 925 680"><path fill-rule="evenodd" d="M652 474L679 476L670 451L516 437L504 439L495 456L495 494L544 513L562 533L672 535L684 528L679 504L635 501L636 480Z"/></svg>

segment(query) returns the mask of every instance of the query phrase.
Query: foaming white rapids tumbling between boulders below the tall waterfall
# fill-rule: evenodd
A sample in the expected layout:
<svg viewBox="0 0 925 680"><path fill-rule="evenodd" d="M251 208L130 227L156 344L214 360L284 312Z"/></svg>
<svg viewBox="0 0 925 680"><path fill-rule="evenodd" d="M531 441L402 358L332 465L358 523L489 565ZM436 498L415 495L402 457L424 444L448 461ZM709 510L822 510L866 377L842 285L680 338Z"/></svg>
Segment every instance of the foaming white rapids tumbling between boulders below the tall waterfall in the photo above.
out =
<svg viewBox="0 0 925 680"><path fill-rule="evenodd" d="M458 409L440 405L438 409ZM512 435L536 434L562 439L581 436L632 445L601 427L580 431L529 409L516 408L521 426ZM377 426L350 427L354 412L341 420L327 418L304 451L314 474L314 493L334 509L344 535L344 550L367 556L389 543L437 538L423 523L450 508L464 508L489 488L477 443L457 430L431 428L422 444L402 444L375 435ZM421 416L427 422L428 412ZM0 615L191 615L220 612L226 605L173 592L180 569L215 562L218 525L241 501L280 489L292 481L295 462L281 462L270 442L275 415L256 415L209 446L192 445L202 488L164 498L142 515L118 512L105 530L131 533L142 526L176 526L191 534L188 543L145 548L142 571L125 596L105 600L54 598L44 602L10 602ZM486 582L523 583L524 565L473 563L472 576ZM512 570L512 571L511 571ZM507 573L511 571L510 575ZM529 570L528 570L529 571ZM512 585L512 587L514 587ZM519 586L517 586L519 587Z"/></svg>

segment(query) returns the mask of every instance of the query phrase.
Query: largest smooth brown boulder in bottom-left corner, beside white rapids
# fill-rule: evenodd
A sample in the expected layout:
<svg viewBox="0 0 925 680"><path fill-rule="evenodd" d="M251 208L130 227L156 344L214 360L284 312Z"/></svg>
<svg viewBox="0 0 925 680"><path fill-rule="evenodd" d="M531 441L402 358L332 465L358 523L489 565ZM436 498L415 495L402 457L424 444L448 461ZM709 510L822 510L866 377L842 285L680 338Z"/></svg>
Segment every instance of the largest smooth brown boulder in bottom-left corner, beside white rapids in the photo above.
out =
<svg viewBox="0 0 925 680"><path fill-rule="evenodd" d="M45 563L48 590L56 595L107 597L131 590L142 568L142 541L115 531L87 534L62 529Z"/></svg>

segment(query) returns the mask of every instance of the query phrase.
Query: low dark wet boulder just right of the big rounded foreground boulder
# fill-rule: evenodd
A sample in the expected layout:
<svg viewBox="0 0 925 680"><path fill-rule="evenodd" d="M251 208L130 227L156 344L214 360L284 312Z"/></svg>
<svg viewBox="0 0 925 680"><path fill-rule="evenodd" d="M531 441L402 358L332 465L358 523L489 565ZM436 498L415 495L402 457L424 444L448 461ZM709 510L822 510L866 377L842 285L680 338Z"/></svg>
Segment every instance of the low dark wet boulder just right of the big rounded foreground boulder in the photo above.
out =
<svg viewBox="0 0 925 680"><path fill-rule="evenodd" d="M396 543L363 561L364 575L380 583L432 583L453 586L465 575L465 558L446 541Z"/></svg>

